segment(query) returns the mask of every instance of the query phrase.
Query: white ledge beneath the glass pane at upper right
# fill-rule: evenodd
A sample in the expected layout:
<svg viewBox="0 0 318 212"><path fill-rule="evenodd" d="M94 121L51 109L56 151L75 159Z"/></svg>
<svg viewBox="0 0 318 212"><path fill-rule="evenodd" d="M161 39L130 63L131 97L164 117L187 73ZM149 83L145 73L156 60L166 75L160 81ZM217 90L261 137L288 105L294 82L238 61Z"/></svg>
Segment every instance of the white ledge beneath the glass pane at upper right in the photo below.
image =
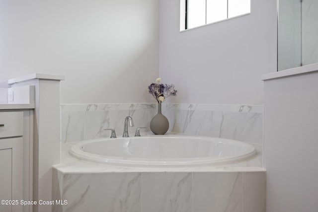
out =
<svg viewBox="0 0 318 212"><path fill-rule="evenodd" d="M276 79L276 78L281 78L286 76L310 73L314 71L318 71L318 63L310 64L310 65L302 66L302 67L296 67L296 68L288 69L284 71L277 71L273 73L264 74L261 76L261 79L262 80Z"/></svg>

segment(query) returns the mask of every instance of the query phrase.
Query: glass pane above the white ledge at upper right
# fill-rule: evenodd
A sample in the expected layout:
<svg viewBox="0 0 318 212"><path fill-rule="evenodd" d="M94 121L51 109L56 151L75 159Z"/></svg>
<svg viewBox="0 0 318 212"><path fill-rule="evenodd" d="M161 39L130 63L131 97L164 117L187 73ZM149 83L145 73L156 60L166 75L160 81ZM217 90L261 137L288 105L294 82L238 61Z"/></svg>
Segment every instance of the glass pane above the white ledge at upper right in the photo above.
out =
<svg viewBox="0 0 318 212"><path fill-rule="evenodd" d="M278 0L277 71L318 63L318 0Z"/></svg>

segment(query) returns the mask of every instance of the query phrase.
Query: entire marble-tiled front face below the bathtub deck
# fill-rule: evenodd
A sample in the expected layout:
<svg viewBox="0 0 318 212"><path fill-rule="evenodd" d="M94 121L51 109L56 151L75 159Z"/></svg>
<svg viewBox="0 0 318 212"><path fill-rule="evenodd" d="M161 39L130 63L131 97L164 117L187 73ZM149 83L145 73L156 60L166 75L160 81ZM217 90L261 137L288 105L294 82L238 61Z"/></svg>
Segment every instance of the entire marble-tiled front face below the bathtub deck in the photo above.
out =
<svg viewBox="0 0 318 212"><path fill-rule="evenodd" d="M53 212L265 212L265 172L62 173Z"/></svg>

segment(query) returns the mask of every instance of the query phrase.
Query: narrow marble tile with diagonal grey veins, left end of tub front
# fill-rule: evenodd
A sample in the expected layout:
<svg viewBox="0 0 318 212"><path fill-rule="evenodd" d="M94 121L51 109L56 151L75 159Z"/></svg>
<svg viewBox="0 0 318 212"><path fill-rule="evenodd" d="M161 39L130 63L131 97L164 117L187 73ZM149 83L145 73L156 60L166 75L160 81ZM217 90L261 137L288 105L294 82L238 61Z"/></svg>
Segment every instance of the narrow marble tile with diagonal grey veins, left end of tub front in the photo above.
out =
<svg viewBox="0 0 318 212"><path fill-rule="evenodd" d="M63 174L63 212L89 211L89 174Z"/></svg>

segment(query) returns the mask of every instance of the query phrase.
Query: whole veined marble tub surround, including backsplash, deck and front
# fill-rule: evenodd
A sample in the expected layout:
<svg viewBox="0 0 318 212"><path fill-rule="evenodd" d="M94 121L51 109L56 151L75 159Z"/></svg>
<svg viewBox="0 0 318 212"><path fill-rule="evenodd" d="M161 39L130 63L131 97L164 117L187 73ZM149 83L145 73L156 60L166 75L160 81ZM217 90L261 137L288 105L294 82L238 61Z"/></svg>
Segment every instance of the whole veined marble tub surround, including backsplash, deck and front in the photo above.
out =
<svg viewBox="0 0 318 212"><path fill-rule="evenodd" d="M221 137L259 146L246 164L173 170L130 169L80 161L69 155L74 141L122 136L124 118L147 127L156 104L61 105L62 164L53 168L53 212L265 212L262 168L263 106L163 104L169 132ZM245 163L245 162L242 162ZM249 164L250 163L250 164ZM248 165L249 164L249 165Z"/></svg>

